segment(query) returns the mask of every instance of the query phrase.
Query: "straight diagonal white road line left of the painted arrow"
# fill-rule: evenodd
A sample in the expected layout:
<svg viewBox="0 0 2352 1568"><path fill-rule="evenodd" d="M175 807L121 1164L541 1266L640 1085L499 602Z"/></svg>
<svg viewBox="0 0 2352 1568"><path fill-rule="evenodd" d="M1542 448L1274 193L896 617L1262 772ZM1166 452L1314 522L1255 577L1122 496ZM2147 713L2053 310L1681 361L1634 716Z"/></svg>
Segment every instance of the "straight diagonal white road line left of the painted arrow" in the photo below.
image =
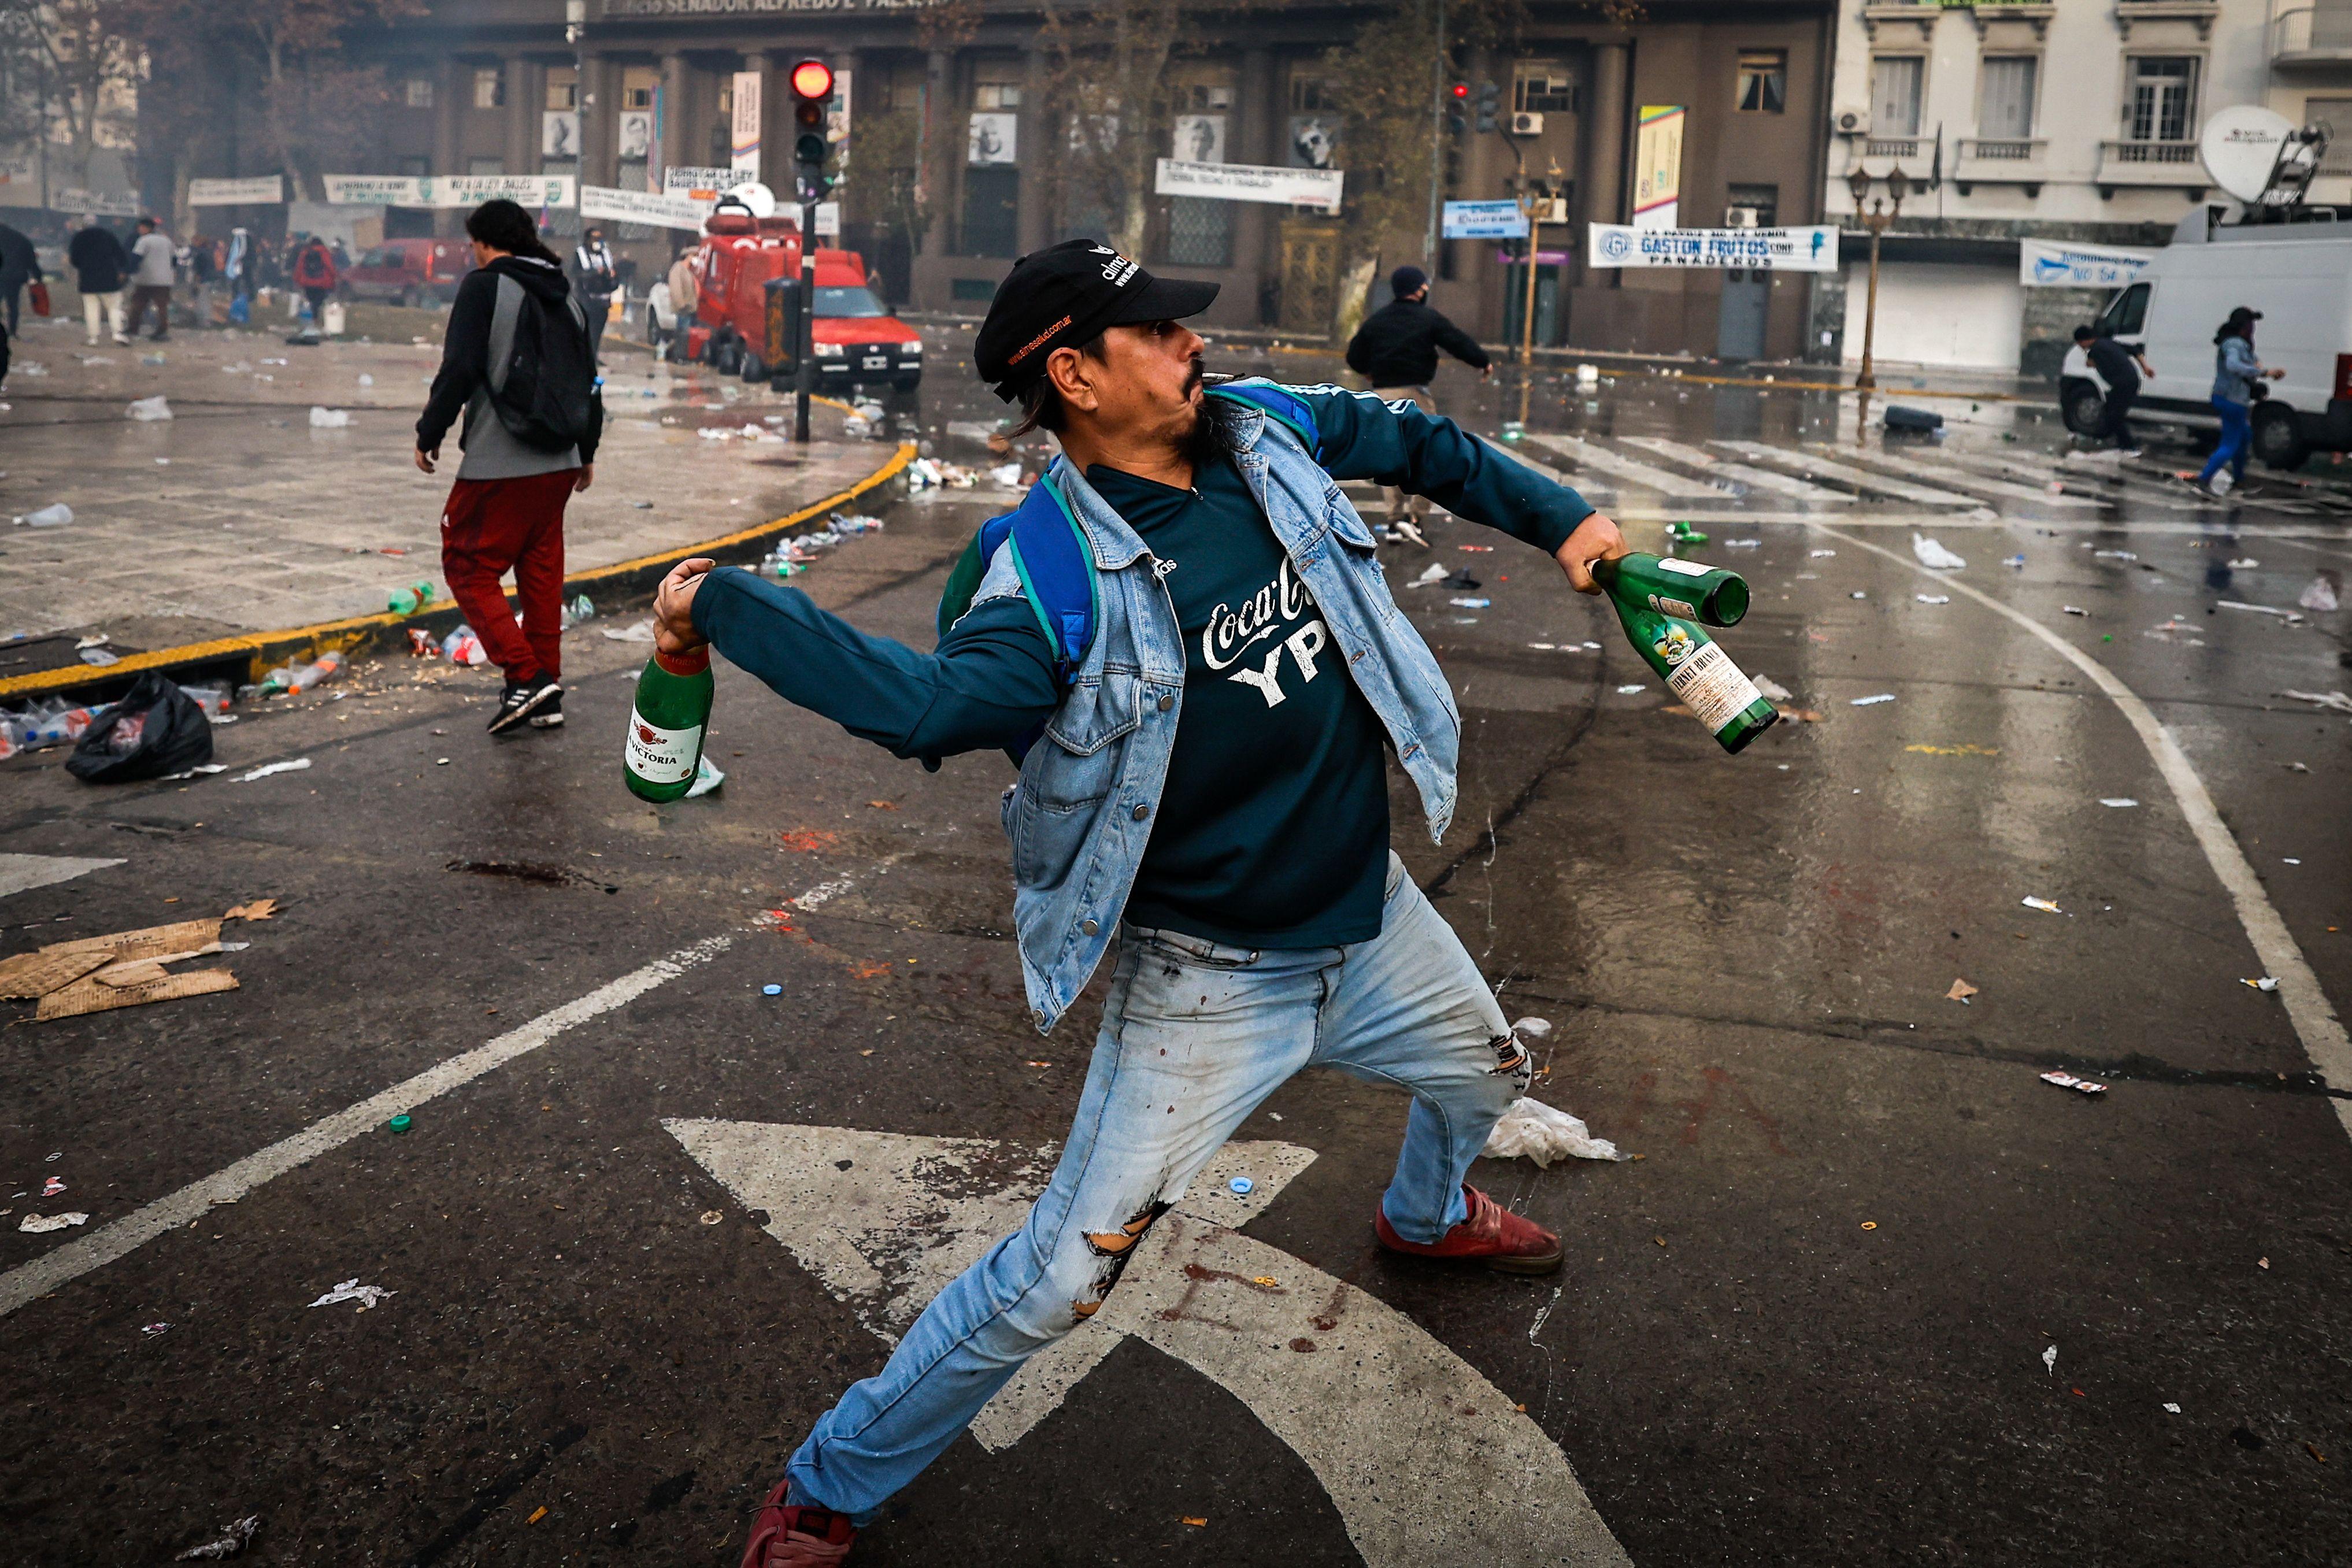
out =
<svg viewBox="0 0 2352 1568"><path fill-rule="evenodd" d="M687 969L717 957L731 940L731 936L713 936L694 943L691 947L680 947L663 959L654 959L644 969L635 969L619 980L609 980L576 1001L567 1001L560 1009L541 1013L520 1030L508 1030L473 1051L426 1067L416 1077L393 1084L383 1093L369 1095L348 1110L339 1110L332 1117L313 1121L292 1138L280 1138L270 1147L247 1154L223 1171L193 1180L169 1197L160 1197L153 1204L134 1208L120 1220L101 1225L78 1241L68 1241L52 1253L42 1253L33 1262L0 1274L0 1316L40 1300L71 1279L80 1279L92 1269L101 1269L108 1262L129 1255L155 1237L176 1229L188 1220L202 1218L219 1204L235 1204L254 1187L306 1166L320 1154L339 1150L353 1138L383 1126L386 1117L416 1110L452 1088L475 1081L494 1067L503 1067L517 1056L529 1056L564 1030L635 1001L656 985L675 980Z"/></svg>

